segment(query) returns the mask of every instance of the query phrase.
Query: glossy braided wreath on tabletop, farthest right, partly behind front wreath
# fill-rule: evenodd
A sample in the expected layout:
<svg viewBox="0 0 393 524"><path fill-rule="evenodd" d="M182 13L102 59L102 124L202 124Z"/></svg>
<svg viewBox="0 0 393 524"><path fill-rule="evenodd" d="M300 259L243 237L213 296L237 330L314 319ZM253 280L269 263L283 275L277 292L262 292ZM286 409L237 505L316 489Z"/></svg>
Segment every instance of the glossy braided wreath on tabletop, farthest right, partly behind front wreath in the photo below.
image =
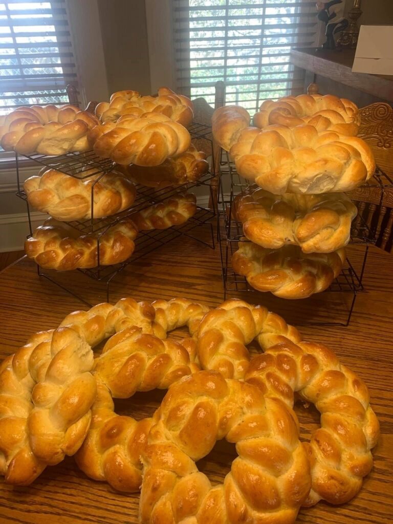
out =
<svg viewBox="0 0 393 524"><path fill-rule="evenodd" d="M296 391L321 413L321 428L305 444L312 477L305 505L320 499L343 504L354 497L373 466L370 449L379 436L363 380L340 364L326 346L290 341L257 356L245 378L265 397L280 398L289 406Z"/></svg>

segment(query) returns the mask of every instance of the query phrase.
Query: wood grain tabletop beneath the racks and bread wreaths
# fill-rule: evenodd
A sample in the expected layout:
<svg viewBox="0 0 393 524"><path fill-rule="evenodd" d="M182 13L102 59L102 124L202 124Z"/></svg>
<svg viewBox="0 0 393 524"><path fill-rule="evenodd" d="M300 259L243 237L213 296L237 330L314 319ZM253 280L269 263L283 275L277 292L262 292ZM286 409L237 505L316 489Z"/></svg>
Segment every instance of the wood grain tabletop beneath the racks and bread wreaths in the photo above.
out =
<svg viewBox="0 0 393 524"><path fill-rule="evenodd" d="M352 263L361 264L364 248L351 246ZM57 274L63 284L90 303L105 300L105 289L79 272ZM248 302L267 305L287 322L296 324L305 340L329 345L341 361L367 384L372 407L380 421L381 436L373 455L373 471L361 492L349 503L319 503L299 512L297 522L308 524L388 524L393 521L393 258L370 247L364 277L349 326L310 325L333 322L351 301L351 293L320 293L303 301L285 301L269 293L232 294ZM216 306L223 300L220 250L191 238L180 238L137 260L116 277L111 302L121 297L154 300L186 297ZM83 302L45 278L23 258L0 272L0 359L14 353L35 331L56 328L65 315L88 309ZM344 318L343 317L343 318ZM302 325L304 324L304 325ZM179 337L178 330L170 336ZM255 351L255 348L253 349ZM137 419L150 416L165 391L136 394L116 401L116 412ZM302 439L319 425L313 406L297 403L295 411ZM234 446L217 443L198 463L212 484L222 482L236 456ZM114 492L106 483L86 477L68 457L46 470L27 487L6 485L0 479L1 524L137 524L138 494ZM166 524L162 522L161 524ZM206 524L209 524L206 522Z"/></svg>

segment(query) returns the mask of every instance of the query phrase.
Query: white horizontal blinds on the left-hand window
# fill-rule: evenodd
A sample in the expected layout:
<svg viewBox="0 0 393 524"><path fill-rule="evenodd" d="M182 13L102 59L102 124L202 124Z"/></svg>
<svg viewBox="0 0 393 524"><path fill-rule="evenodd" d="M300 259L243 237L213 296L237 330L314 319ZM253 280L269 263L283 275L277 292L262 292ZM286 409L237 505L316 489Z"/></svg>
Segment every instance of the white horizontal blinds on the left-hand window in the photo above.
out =
<svg viewBox="0 0 393 524"><path fill-rule="evenodd" d="M0 114L67 103L65 86L76 82L64 0L0 0Z"/></svg>

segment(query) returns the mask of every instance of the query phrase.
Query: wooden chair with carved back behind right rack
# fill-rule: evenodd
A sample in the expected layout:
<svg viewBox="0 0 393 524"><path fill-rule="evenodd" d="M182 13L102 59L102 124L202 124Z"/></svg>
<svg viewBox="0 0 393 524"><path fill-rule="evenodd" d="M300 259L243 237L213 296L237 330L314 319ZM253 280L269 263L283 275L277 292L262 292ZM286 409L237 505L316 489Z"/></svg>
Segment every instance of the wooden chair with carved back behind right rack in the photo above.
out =
<svg viewBox="0 0 393 524"><path fill-rule="evenodd" d="M357 203L358 217L375 231L376 245L391 251L393 241L393 108L386 103L362 107L358 136L371 147L376 176L348 193ZM386 176L385 176L386 175Z"/></svg>

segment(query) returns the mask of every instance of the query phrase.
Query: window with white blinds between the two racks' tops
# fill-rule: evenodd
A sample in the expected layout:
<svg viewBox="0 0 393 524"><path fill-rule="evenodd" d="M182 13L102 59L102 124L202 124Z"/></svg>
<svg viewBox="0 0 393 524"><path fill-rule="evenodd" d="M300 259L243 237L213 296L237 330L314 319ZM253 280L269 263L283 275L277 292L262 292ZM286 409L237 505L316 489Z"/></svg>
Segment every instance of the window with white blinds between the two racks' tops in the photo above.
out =
<svg viewBox="0 0 393 524"><path fill-rule="evenodd" d="M302 92L302 72L289 54L314 45L315 1L172 1L179 92L213 104L214 84L223 80L226 104L248 110Z"/></svg>

